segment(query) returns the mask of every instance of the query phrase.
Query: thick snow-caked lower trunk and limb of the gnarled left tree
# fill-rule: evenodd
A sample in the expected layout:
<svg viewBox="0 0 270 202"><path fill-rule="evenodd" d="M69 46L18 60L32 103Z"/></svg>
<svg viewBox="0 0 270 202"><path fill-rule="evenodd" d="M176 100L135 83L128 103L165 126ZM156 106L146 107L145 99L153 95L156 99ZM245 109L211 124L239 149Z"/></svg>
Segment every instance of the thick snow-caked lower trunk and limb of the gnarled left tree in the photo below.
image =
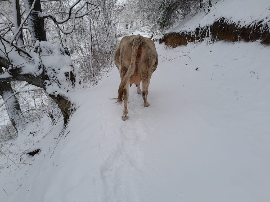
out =
<svg viewBox="0 0 270 202"><path fill-rule="evenodd" d="M0 82L25 81L46 90L67 121L73 111L68 92L81 88L78 69L72 63L68 50L46 41L36 41L31 51L32 58L28 59L12 50L5 41L0 43L0 50L0 58L8 57L13 65L0 74Z"/></svg>

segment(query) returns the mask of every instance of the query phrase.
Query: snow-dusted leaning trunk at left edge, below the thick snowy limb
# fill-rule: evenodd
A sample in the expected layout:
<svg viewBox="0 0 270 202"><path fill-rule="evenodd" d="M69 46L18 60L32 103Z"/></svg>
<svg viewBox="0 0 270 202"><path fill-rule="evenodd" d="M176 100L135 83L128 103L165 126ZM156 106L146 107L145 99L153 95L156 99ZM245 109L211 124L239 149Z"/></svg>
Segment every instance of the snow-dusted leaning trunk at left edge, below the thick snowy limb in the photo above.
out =
<svg viewBox="0 0 270 202"><path fill-rule="evenodd" d="M0 64L0 73L3 72L2 66L3 63ZM0 95L2 96L3 100L7 99L9 96L13 94L13 90L11 87L10 82L0 82ZM27 124L27 120L24 117L20 117L19 115L22 113L21 107L15 95L8 99L5 102L6 110L8 112L9 119L18 132L20 129L24 129L25 125Z"/></svg>

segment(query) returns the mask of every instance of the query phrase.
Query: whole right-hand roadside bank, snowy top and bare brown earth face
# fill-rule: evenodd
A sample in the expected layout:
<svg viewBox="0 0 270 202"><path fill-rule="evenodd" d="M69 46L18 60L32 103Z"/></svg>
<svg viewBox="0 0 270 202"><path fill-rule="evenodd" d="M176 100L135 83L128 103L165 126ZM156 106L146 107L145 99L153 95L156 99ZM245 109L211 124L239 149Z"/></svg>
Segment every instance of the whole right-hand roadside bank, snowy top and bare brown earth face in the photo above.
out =
<svg viewBox="0 0 270 202"><path fill-rule="evenodd" d="M189 42L225 40L260 41L270 45L268 0L217 0L211 8L205 9L190 12L178 25L159 37L160 43L177 47Z"/></svg>

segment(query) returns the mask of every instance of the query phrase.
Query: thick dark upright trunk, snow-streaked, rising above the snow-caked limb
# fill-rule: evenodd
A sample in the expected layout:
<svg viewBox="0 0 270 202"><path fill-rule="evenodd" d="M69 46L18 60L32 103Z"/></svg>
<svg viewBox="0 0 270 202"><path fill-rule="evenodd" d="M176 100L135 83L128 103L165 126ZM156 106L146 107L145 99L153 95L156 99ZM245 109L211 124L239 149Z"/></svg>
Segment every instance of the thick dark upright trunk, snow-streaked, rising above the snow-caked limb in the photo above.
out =
<svg viewBox="0 0 270 202"><path fill-rule="evenodd" d="M25 10L29 12L34 0L24 0ZM44 20L39 17L39 13L42 14L40 0L36 0L34 9L32 10L29 18L27 19L29 31L31 34L32 42L35 45L36 41L47 41Z"/></svg>

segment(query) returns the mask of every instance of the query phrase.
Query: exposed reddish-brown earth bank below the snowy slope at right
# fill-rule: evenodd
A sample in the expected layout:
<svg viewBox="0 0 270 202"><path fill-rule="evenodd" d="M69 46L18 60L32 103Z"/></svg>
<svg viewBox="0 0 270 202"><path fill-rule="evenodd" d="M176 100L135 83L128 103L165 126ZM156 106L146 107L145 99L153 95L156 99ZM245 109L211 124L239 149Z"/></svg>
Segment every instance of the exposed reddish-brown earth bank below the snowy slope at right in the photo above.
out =
<svg viewBox="0 0 270 202"><path fill-rule="evenodd" d="M240 27L235 23L227 23L225 18L220 18L212 25L198 27L195 32L170 32L164 34L159 39L159 43L165 43L170 47L187 45L188 42L201 41L212 36L217 40L226 41L256 41L260 40L262 44L270 45L270 28L261 22L248 27Z"/></svg>

